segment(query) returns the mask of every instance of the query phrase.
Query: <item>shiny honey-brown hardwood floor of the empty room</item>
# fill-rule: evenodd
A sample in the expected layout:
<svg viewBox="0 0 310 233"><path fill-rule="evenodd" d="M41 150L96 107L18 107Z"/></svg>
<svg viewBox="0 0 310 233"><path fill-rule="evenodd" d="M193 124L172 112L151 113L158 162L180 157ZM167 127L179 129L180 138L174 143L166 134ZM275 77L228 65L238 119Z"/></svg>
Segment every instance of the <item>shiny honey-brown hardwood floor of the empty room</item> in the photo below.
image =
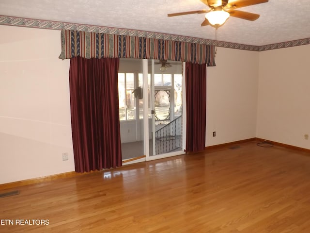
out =
<svg viewBox="0 0 310 233"><path fill-rule="evenodd" d="M19 187L0 232L310 232L309 153L238 145Z"/></svg>

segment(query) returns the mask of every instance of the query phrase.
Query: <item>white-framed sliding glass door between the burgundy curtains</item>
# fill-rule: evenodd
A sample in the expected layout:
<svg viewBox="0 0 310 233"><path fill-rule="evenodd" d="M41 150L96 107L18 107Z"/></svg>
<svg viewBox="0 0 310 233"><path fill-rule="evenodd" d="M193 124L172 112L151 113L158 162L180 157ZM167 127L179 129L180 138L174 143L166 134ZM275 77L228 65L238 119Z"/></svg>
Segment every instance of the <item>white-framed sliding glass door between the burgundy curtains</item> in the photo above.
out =
<svg viewBox="0 0 310 233"><path fill-rule="evenodd" d="M161 60L120 60L124 164L184 153L182 65Z"/></svg>

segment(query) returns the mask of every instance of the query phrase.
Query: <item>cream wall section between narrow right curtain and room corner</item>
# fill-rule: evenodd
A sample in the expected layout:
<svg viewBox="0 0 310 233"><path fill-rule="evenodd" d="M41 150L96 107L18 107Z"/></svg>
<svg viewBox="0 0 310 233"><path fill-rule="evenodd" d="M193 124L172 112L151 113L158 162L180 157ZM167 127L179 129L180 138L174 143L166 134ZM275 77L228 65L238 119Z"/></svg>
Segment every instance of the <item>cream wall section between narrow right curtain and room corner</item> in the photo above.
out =
<svg viewBox="0 0 310 233"><path fill-rule="evenodd" d="M206 146L255 137L258 59L259 52L217 48L217 66L207 67Z"/></svg>

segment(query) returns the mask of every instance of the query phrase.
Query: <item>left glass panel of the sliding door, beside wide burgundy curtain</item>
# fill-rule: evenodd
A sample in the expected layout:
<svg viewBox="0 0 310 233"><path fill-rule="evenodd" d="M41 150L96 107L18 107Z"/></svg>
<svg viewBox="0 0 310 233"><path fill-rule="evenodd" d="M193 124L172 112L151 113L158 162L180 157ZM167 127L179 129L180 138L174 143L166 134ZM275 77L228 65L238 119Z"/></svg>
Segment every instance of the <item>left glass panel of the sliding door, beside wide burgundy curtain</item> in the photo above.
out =
<svg viewBox="0 0 310 233"><path fill-rule="evenodd" d="M142 60L120 59L118 91L123 161L145 155L143 82L139 73L142 73Z"/></svg>

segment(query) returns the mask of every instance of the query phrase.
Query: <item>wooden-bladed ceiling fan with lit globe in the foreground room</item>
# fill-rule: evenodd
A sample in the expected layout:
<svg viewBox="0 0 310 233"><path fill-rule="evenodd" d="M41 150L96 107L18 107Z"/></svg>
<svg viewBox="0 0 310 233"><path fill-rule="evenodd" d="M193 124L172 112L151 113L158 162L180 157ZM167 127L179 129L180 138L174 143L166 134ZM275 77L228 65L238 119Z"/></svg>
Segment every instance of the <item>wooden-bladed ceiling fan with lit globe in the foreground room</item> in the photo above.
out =
<svg viewBox="0 0 310 233"><path fill-rule="evenodd" d="M218 28L219 26L223 25L230 16L247 19L250 21L258 19L260 17L260 15L258 14L239 11L235 9L268 2L268 0L201 0L201 1L204 4L206 4L210 9L172 13L168 14L168 17L206 13L205 15L206 19L202 22L201 26L211 25L215 28Z"/></svg>

